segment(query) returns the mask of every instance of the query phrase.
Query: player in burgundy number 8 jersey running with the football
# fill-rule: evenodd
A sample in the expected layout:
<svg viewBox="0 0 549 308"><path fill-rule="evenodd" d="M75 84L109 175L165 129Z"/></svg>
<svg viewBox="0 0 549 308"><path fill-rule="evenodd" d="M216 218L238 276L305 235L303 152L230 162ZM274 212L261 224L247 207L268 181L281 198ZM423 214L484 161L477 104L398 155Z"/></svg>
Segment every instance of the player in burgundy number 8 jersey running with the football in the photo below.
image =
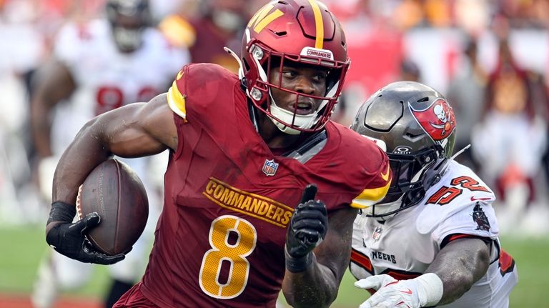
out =
<svg viewBox="0 0 549 308"><path fill-rule="evenodd" d="M164 207L142 280L114 307L328 307L350 259L358 209L391 182L382 149L330 121L350 60L342 28L315 0L272 1L242 38L239 74L189 64L147 104L89 121L54 177L46 241L112 264L71 223L77 189L112 154L169 150ZM85 233L85 232L84 232Z"/></svg>

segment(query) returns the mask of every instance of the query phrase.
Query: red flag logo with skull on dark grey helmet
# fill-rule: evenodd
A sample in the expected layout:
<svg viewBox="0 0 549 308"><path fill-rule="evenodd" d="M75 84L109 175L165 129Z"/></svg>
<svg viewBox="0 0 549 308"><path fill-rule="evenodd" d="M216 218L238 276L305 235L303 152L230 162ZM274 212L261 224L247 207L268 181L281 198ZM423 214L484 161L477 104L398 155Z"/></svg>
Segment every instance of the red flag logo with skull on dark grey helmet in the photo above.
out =
<svg viewBox="0 0 549 308"><path fill-rule="evenodd" d="M440 141L452 134L455 129L455 116L452 107L444 99L436 99L424 110L414 110L412 114L433 140Z"/></svg>

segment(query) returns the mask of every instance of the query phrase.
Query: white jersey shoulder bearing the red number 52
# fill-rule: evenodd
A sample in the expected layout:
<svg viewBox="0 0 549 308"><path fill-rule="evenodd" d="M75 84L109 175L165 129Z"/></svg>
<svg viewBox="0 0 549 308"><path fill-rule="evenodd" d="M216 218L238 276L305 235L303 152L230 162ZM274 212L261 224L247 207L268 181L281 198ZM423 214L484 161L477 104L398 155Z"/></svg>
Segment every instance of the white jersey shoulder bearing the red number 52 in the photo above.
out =
<svg viewBox="0 0 549 308"><path fill-rule="evenodd" d="M425 208L417 217L417 232L428 234L445 219L470 209L473 204L492 204L494 200L492 190L471 169L452 161L445 175L427 189L421 201Z"/></svg>

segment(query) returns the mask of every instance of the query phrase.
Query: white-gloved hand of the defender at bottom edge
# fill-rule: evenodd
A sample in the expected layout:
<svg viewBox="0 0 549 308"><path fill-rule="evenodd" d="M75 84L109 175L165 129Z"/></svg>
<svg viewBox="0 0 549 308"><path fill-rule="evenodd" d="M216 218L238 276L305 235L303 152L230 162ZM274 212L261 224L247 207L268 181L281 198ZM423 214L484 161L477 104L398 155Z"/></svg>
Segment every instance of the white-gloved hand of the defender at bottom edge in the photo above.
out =
<svg viewBox="0 0 549 308"><path fill-rule="evenodd" d="M408 280L397 280L387 274L376 275L360 279L355 287L377 290L359 308L419 308L434 306L442 298L442 281L432 273Z"/></svg>

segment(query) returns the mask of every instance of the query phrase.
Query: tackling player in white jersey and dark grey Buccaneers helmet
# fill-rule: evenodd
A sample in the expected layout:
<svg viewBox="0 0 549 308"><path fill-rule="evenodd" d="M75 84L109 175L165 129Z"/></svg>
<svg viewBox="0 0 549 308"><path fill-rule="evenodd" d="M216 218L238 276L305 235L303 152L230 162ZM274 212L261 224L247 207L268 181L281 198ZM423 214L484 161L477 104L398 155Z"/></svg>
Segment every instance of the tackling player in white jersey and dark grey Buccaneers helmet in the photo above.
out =
<svg viewBox="0 0 549 308"><path fill-rule="evenodd" d="M387 152L393 173L385 199L355 220L350 271L373 294L361 308L508 307L515 262L500 246L492 190L451 156L455 125L446 99L413 81L358 111L351 128Z"/></svg>

